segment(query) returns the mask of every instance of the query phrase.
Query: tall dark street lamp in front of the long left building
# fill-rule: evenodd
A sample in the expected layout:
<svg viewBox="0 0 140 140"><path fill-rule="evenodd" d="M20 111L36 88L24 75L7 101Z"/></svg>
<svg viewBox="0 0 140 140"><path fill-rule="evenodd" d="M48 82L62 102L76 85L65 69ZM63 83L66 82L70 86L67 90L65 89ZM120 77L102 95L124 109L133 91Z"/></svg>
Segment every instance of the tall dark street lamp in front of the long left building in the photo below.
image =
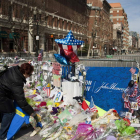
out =
<svg viewBox="0 0 140 140"><path fill-rule="evenodd" d="M38 50L39 50L39 22L41 22L41 11L35 9L33 11L34 14L34 22L36 22L36 57L38 57Z"/></svg>

